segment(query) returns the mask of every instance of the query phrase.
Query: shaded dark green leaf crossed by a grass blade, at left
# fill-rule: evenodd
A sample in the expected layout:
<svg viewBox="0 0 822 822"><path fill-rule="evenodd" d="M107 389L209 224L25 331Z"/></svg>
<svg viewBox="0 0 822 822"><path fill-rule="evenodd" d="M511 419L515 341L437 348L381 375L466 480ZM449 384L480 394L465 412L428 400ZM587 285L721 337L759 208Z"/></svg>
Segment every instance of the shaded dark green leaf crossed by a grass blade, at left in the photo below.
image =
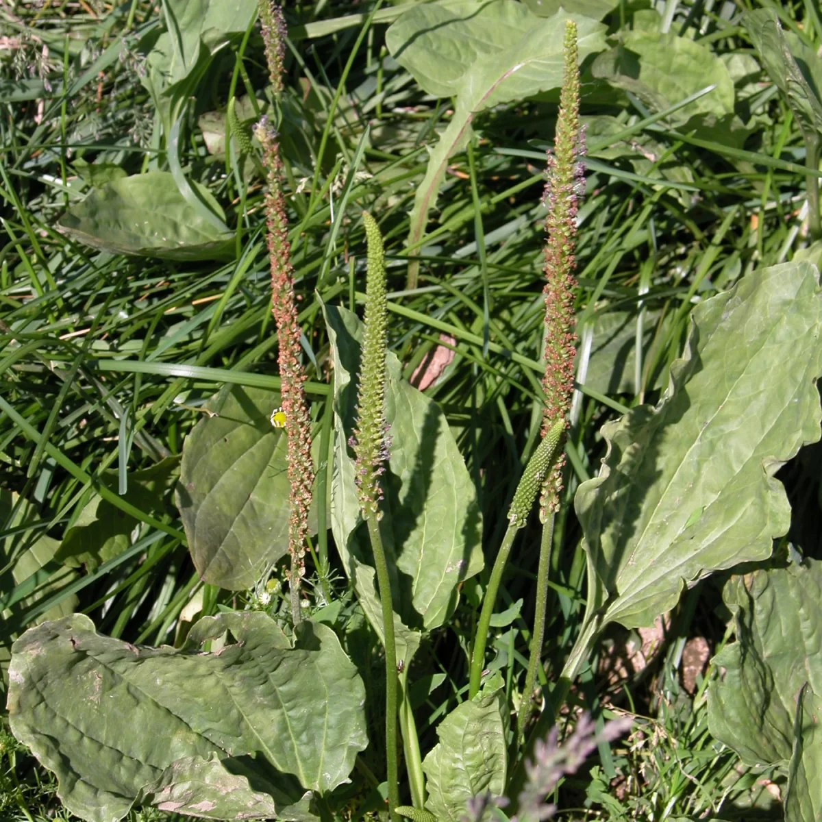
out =
<svg viewBox="0 0 822 822"><path fill-rule="evenodd" d="M161 514L166 493L178 473L177 457L163 459L149 469L132 471L123 499L146 514ZM116 479L116 471L106 474ZM72 568L85 565L86 570L95 571L101 563L122 554L131 545L131 533L136 524L134 517L106 502L99 494L92 494L75 523L66 531L54 558Z"/></svg>

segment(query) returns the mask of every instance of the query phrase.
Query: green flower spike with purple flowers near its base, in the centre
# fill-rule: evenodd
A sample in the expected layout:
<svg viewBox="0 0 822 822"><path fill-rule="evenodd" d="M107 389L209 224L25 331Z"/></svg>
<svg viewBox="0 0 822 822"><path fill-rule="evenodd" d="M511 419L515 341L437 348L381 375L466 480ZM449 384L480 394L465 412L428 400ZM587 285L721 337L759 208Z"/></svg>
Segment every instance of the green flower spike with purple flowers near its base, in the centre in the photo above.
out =
<svg viewBox="0 0 822 822"><path fill-rule="evenodd" d="M386 255L372 215L363 212L368 242L363 360L357 395L357 427L349 445L357 455L356 479L363 516L379 517L383 463L388 459L390 434L386 423Z"/></svg>

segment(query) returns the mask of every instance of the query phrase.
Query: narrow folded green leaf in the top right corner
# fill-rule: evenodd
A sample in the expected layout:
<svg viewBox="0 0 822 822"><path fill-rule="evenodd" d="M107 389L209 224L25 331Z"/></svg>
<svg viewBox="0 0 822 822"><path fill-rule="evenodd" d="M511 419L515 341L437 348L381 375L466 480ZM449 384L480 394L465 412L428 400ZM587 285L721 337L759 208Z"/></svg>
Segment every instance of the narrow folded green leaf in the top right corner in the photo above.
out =
<svg viewBox="0 0 822 822"><path fill-rule="evenodd" d="M822 60L796 35L784 32L771 9L742 15L744 25L770 78L782 91L807 138L822 131Z"/></svg>

